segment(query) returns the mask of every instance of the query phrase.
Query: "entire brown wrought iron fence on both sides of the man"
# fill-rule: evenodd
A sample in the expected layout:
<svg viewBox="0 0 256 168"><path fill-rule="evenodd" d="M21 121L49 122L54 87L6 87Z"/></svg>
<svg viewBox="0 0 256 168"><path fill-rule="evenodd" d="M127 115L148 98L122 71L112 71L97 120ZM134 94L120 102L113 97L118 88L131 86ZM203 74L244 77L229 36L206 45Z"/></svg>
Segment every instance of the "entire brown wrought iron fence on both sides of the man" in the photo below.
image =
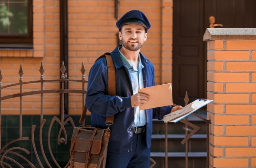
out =
<svg viewBox="0 0 256 168"><path fill-rule="evenodd" d="M82 63L82 68L81 68L81 73L82 73L82 79L78 80L78 79L65 79L65 66L64 63L62 62L62 66L60 68L61 71L61 79L50 79L50 80L44 80L44 68L43 68L43 64L41 63L41 67L39 69L40 72L40 80L36 80L36 81L28 81L28 82L23 82L23 69L22 69L22 65L20 66L20 70L19 70L19 76L20 76L20 81L18 83L14 83L14 84L10 84L10 85L6 85L6 86L2 86L2 73L1 73L1 69L0 69L0 164L1 167L10 167L12 168L13 165L18 166L18 167L24 167L23 164L29 165L30 167L36 167L35 166L35 162L37 161L36 165L40 166L41 168L43 168L44 166L48 166L50 168L52 167L58 167L61 168L61 165L57 162L56 157L53 154L53 150L52 150L52 145L51 145L51 135L53 137L53 134L51 134L52 129L53 129L53 125L57 123L58 125L58 131L56 131L56 133L58 135L56 135L56 139L58 145L60 144L65 144L68 145L68 140L71 139L71 134L70 137L68 137L65 125L67 123L69 123L71 125L71 128L75 127L75 122L73 121L73 119L71 117L68 118L64 118L64 93L78 93L81 94L82 96L82 107L84 107L84 103L85 103L85 94L86 94L86 90L85 90L85 84L88 82L87 80L85 80L85 66L84 63ZM55 83L61 83L61 88L60 89L44 89L44 84L45 83L50 83L50 82L55 82ZM64 88L64 83L69 83L69 82L77 82L81 84L81 89L65 89ZM34 84L34 83L40 83L40 89L39 90L35 90L35 91L28 91L25 92L23 89L23 86L26 84ZM15 93L15 94L10 94L10 95L4 95L2 96L2 90L6 89L6 88L10 88L13 86L18 86L19 87L19 93ZM44 108L43 108L43 95L47 94L47 93L60 93L61 94L61 114L60 114L60 119L57 116L53 116L52 119L50 119L49 117L47 119L50 119L50 125L48 128L48 132L47 132L47 151L50 153L50 157L46 156L45 154L45 143L43 140L43 130L47 129L44 128L45 123L46 123L46 119L45 116L43 115L44 112ZM29 136L24 136L23 135L23 96L29 96L29 95L36 95L36 94L40 94L40 122L37 123L38 125L32 125L31 128L31 137ZM2 145L2 101L3 100L8 100L11 98L15 98L15 97L19 97L20 101L19 101L19 136L13 140L10 141L6 141L6 144ZM185 99L185 103L188 103L188 96L186 94L186 99ZM82 109L81 109L81 113L82 113ZM209 120L206 120L204 118L202 118L201 116L194 114L194 116L200 118L201 120L206 122L207 125L207 142L209 142ZM186 144L186 168L188 167L188 146L187 146L187 141L188 139L199 129L198 126L190 123L186 120L182 120L181 122L183 122L187 126L191 126L192 128L194 128L194 130L192 132L190 132L188 134L187 129L186 129L186 138L184 140L181 141L182 144ZM36 127L39 126L39 130L38 130L38 134L36 135ZM165 151L166 151L166 159L165 159L165 167L168 166L167 163L167 123L165 124ZM35 136L39 136L38 139L35 138ZM15 142L22 142L22 141L31 141L32 144L32 150L29 151L25 148L16 146L17 144L15 144ZM36 144L36 142L38 142L39 144ZM21 143L19 143L21 144ZM209 143L207 143L207 165L209 165ZM3 147L2 147L3 146ZM69 147L69 146L68 146ZM32 152L33 151L33 152ZM69 154L69 151L66 151L67 154ZM15 156L16 158L19 159L14 159L12 157L7 156L8 154L11 154L11 156ZM25 154L25 156L24 156ZM26 155L32 154L36 157L36 161L32 161L27 159ZM63 166L64 168L66 168L69 165L69 159L68 158L66 160L65 165ZM19 163L20 160L23 160L23 163ZM50 161L51 160L51 161ZM151 161L153 162L151 165L151 168L155 166L156 162L151 158Z"/></svg>

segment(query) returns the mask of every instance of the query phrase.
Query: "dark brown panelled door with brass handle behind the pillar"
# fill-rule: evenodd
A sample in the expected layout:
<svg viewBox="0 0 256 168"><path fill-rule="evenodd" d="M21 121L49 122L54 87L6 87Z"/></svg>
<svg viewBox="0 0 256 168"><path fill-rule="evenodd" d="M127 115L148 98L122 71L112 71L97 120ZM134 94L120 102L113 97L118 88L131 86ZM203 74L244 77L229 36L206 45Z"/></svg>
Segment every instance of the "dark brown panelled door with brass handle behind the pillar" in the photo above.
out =
<svg viewBox="0 0 256 168"><path fill-rule="evenodd" d="M256 28L255 0L173 0L173 102L206 98L206 28Z"/></svg>

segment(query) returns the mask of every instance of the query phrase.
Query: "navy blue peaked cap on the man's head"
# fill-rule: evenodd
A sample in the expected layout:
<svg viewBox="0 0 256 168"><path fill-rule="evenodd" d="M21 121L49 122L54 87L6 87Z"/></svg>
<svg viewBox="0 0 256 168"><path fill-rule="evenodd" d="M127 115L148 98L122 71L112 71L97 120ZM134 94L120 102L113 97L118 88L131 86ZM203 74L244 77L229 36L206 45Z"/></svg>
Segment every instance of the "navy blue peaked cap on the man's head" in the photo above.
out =
<svg viewBox="0 0 256 168"><path fill-rule="evenodd" d="M151 27L147 16L139 10L131 10L125 13L118 21L117 28L120 30L123 25L137 24L145 27L146 32Z"/></svg>

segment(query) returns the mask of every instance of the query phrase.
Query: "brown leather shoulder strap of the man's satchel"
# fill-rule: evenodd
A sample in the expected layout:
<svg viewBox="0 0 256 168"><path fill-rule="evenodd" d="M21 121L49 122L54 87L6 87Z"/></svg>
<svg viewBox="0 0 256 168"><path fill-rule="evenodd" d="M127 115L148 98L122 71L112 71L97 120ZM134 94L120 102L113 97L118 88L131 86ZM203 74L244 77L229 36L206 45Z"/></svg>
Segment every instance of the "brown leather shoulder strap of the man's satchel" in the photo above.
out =
<svg viewBox="0 0 256 168"><path fill-rule="evenodd" d="M104 54L102 54L101 56L99 56L96 61L105 56L106 57L106 62L107 62L107 81L108 81L108 95L110 96L114 96L116 95L116 68L115 68L115 65L114 65L114 62L113 62L113 59L110 55L109 52L106 52ZM83 113L81 114L81 117L80 117L80 120L79 120L79 126L84 125L84 119L85 119L85 116L86 116L86 112L87 112L87 107L86 107L86 104L85 104L85 107L84 107L84 110L83 110ZM114 123L114 116L109 116L109 117L106 117L106 122L105 124L113 124Z"/></svg>

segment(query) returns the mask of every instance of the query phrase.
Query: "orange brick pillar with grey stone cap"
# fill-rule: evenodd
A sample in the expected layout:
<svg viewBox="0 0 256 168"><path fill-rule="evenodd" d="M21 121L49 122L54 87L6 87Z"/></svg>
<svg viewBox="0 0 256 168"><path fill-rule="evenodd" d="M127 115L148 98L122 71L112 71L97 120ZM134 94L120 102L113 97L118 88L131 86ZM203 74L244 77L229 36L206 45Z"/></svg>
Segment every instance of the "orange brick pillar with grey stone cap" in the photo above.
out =
<svg viewBox="0 0 256 168"><path fill-rule="evenodd" d="M256 167L256 29L207 29L210 167Z"/></svg>

